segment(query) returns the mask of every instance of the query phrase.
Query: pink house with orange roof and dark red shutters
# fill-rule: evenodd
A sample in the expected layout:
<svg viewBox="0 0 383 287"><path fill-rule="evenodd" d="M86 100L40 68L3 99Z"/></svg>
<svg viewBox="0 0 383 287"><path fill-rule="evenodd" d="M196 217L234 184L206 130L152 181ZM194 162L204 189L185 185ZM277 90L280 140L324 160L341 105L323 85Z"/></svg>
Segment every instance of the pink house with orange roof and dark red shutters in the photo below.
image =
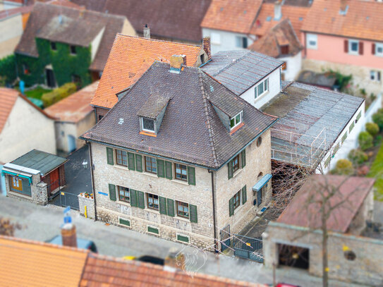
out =
<svg viewBox="0 0 383 287"><path fill-rule="evenodd" d="M353 75L367 94L382 91L383 4L315 0L302 26L303 68Z"/></svg>

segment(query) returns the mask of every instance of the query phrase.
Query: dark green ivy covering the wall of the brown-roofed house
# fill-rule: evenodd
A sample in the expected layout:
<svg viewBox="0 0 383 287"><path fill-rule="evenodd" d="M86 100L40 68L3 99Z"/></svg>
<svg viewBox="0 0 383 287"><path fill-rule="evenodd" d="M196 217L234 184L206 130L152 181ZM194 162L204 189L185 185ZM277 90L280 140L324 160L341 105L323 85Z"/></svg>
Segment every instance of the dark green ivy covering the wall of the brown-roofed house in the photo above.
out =
<svg viewBox="0 0 383 287"><path fill-rule="evenodd" d="M51 49L49 40L37 38L36 44L39 51L38 58L16 54L18 75L25 81L25 85L46 83L45 67L49 64L53 68L58 86L72 82L72 75L80 77L81 87L92 83L89 71L91 47L76 46L76 54L72 55L68 44L56 42L56 51ZM28 68L27 74L23 70L24 67Z"/></svg>

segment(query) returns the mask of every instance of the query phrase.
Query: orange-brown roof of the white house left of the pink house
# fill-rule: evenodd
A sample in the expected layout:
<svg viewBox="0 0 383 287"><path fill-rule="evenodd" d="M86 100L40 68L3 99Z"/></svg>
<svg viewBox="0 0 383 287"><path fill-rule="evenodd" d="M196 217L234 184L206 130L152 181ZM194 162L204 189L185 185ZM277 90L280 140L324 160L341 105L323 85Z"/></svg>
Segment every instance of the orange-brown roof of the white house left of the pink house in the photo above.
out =
<svg viewBox="0 0 383 287"><path fill-rule="evenodd" d="M262 0L212 0L201 27L231 32L250 32Z"/></svg>

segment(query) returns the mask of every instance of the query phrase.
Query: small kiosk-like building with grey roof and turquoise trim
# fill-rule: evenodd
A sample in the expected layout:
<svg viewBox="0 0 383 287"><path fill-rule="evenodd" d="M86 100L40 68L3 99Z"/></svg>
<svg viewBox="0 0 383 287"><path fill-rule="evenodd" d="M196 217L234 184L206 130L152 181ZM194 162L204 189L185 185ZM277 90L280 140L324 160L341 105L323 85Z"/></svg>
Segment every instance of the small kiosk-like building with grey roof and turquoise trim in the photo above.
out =
<svg viewBox="0 0 383 287"><path fill-rule="evenodd" d="M6 182L6 195L47 204L66 184L66 161L63 157L32 149L4 164L2 174Z"/></svg>

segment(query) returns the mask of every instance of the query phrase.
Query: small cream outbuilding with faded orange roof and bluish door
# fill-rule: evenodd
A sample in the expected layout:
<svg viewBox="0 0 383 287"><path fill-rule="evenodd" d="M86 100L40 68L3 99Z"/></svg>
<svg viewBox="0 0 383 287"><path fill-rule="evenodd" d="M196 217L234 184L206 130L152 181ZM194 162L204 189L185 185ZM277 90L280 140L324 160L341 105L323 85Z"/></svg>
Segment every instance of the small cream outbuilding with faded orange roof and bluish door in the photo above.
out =
<svg viewBox="0 0 383 287"><path fill-rule="evenodd" d="M92 83L44 109L49 116L56 119L54 126L58 152L68 154L85 144L78 137L95 126L95 115L90 101L95 96L98 85L98 81Z"/></svg>

